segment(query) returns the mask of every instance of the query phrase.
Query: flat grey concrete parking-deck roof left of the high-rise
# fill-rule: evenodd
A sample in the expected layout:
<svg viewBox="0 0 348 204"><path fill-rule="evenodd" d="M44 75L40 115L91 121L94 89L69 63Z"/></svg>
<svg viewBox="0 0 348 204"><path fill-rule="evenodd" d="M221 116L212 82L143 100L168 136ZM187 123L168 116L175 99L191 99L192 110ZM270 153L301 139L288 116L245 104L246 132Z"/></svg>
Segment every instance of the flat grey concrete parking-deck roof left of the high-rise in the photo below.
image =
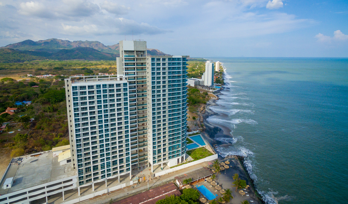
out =
<svg viewBox="0 0 348 204"><path fill-rule="evenodd" d="M52 152L42 153L39 156L26 155L22 158L19 165L9 165L5 177L1 180L0 187L3 186L7 178L14 177L14 182L11 188L5 190L1 188L1 195L76 175L71 163L60 165L58 157L53 158Z"/></svg>

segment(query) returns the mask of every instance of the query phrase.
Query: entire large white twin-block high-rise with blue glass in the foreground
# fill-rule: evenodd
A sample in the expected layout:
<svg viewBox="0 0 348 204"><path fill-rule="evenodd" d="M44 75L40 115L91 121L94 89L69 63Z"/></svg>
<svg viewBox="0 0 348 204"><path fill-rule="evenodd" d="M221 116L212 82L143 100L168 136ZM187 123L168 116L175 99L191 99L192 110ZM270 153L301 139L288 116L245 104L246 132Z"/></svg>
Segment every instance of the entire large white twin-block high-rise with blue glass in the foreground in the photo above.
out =
<svg viewBox="0 0 348 204"><path fill-rule="evenodd" d="M79 186L185 159L187 57L120 41L117 75L65 79Z"/></svg>

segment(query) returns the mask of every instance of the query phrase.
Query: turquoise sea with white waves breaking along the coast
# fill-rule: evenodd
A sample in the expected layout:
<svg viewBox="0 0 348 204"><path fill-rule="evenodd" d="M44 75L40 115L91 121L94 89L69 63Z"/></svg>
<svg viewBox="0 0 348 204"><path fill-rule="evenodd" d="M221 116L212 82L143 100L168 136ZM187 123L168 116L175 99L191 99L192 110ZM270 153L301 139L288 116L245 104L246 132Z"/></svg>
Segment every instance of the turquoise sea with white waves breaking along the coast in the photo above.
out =
<svg viewBox="0 0 348 204"><path fill-rule="evenodd" d="M247 156L267 203L348 203L348 59L209 60L226 68L219 154Z"/></svg>

